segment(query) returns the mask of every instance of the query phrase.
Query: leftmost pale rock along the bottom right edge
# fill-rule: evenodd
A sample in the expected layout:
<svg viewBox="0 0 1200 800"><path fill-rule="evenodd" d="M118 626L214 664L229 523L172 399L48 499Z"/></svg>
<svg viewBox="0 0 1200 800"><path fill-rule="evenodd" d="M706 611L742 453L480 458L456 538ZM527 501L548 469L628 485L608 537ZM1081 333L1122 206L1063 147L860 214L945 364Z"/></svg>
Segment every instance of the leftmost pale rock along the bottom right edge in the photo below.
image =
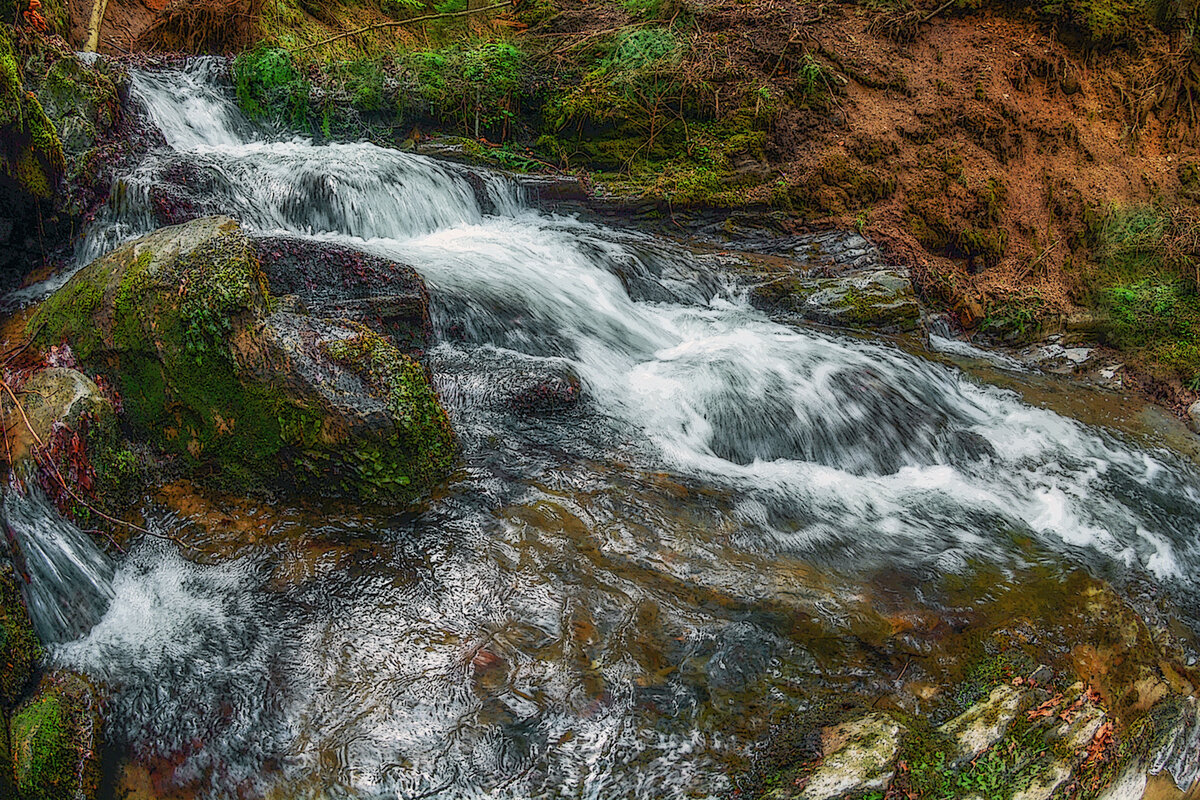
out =
<svg viewBox="0 0 1200 800"><path fill-rule="evenodd" d="M822 759L794 796L830 800L888 784L900 750L901 726L883 714L869 714L821 732ZM782 796L782 795L772 795Z"/></svg>

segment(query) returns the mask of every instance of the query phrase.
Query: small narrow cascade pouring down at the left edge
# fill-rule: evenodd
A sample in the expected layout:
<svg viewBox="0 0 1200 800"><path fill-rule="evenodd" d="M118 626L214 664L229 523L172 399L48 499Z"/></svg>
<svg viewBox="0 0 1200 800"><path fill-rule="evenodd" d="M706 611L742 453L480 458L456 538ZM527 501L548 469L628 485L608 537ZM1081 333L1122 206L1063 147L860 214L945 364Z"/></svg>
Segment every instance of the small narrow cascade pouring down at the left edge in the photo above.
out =
<svg viewBox="0 0 1200 800"><path fill-rule="evenodd" d="M25 606L42 642L91 630L113 600L113 563L36 488L4 499L5 533L16 547Z"/></svg>

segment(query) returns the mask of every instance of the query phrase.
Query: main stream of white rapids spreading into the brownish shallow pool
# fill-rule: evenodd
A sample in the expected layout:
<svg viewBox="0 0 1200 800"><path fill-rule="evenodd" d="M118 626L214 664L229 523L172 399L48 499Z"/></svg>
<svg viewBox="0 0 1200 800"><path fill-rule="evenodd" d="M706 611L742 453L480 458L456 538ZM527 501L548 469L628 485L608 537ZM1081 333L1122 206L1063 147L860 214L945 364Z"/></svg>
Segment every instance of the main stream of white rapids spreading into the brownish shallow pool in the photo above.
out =
<svg viewBox="0 0 1200 800"><path fill-rule="evenodd" d="M146 230L150 184L184 167L198 207L250 230L410 264L464 449L415 516L268 515L216 565L149 541L121 563L107 614L54 657L114 687L118 735L170 784L703 796L767 706L865 680L822 672L794 621L840 630L864 576L1081 565L1194 604L1200 483L1165 452L776 324L715 255L539 212L500 178L259 138L211 61L134 94L168 148L80 258ZM578 409L494 402L504 375L564 367Z"/></svg>

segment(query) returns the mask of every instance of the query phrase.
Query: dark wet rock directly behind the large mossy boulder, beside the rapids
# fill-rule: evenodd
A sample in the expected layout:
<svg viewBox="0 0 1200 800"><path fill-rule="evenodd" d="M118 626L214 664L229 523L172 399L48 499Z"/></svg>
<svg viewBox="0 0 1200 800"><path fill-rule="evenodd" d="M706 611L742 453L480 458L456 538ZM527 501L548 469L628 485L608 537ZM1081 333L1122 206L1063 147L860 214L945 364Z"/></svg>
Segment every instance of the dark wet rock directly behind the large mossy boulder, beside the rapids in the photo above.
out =
<svg viewBox="0 0 1200 800"><path fill-rule="evenodd" d="M407 264L288 236L254 237L253 243L272 294L295 296L314 317L362 323L403 350L427 344L430 294Z"/></svg>

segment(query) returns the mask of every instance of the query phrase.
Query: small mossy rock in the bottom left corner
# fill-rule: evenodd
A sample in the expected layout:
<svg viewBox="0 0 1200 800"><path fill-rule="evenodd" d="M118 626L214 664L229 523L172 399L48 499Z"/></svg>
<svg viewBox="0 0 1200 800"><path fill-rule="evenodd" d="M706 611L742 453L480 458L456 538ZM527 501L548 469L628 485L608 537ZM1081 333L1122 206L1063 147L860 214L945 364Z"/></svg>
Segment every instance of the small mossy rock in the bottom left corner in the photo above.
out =
<svg viewBox="0 0 1200 800"><path fill-rule="evenodd" d="M12 715L13 775L22 798L95 798L103 741L101 698L86 678L56 672Z"/></svg>

